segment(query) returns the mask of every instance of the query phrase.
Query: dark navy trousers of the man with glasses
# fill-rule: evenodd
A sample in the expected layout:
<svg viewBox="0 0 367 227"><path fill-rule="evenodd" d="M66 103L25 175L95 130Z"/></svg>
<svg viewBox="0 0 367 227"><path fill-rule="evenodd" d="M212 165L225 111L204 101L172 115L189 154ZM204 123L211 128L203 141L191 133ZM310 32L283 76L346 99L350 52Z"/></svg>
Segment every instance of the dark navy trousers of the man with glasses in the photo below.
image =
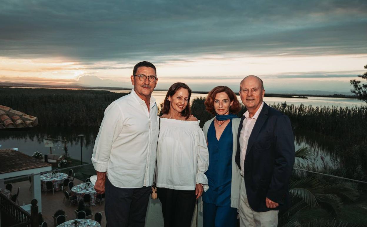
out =
<svg viewBox="0 0 367 227"><path fill-rule="evenodd" d="M150 187L118 188L106 178L107 227L144 227Z"/></svg>

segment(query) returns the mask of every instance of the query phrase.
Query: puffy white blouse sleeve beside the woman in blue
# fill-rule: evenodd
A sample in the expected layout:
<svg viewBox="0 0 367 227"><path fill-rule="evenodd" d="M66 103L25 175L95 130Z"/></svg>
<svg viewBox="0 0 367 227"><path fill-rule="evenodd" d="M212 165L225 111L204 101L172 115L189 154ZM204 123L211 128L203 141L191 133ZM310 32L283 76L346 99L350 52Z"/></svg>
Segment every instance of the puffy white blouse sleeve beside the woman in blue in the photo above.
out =
<svg viewBox="0 0 367 227"><path fill-rule="evenodd" d="M197 131L197 171L196 171L196 182L203 184L204 191L207 191L208 178L204 174L209 167L209 152L208 146L205 140L204 132L201 130Z"/></svg>

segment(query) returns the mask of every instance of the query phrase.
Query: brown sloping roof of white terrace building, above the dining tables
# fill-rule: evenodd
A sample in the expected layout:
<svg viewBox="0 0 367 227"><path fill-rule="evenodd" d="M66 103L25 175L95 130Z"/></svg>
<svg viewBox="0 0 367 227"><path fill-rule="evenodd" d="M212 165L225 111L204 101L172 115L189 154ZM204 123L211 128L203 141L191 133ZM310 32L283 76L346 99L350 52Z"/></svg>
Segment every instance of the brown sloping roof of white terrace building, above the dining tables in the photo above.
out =
<svg viewBox="0 0 367 227"><path fill-rule="evenodd" d="M13 149L0 149L0 174L51 166Z"/></svg>

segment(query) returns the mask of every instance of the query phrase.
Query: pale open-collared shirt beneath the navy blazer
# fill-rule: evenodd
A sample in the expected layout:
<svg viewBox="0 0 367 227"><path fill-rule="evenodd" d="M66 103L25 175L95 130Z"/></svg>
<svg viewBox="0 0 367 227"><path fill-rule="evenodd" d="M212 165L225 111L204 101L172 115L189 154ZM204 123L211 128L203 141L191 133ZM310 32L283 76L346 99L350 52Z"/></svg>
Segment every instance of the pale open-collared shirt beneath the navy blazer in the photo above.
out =
<svg viewBox="0 0 367 227"><path fill-rule="evenodd" d="M243 116L245 116L245 119L242 122L242 129L241 129L241 132L240 132L241 175L244 175L243 174L243 162L245 161L248 138L250 138L252 129L254 128L254 125L256 123L256 119L259 117L259 114L260 114L263 106L264 106L264 101L261 103L259 109L256 111L256 113L252 117L249 117L250 113L248 113L248 110L243 114Z"/></svg>

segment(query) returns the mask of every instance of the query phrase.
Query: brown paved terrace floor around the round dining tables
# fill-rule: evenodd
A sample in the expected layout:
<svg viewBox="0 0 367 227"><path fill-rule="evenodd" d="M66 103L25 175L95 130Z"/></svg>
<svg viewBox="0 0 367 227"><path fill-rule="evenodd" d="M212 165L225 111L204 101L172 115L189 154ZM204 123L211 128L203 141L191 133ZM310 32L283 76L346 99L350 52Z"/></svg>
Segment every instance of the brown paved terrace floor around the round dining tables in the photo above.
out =
<svg viewBox="0 0 367 227"><path fill-rule="evenodd" d="M83 183L84 181L81 181L77 178L74 179L74 185L78 185L80 183ZM20 187L19 190L19 205L22 206L23 202L25 204L30 204L30 201L32 201L32 193L29 190L30 183L29 181L20 181L16 183L12 183L13 189L12 194L16 194L18 187ZM59 209L65 210L66 220L72 220L75 219L75 212L74 210L77 209L78 205L77 203L72 204L69 206L70 202L63 201L64 195L62 191L55 191L55 194L52 195L52 191L48 191L47 195L45 195L44 192L42 192L42 217L43 220L47 222L48 226L52 227L54 226L54 219L52 218L52 215ZM92 213L93 217L91 219L94 219L94 214L97 212L102 213L102 222L101 227L106 226L106 216L105 216L105 204L104 201L102 202L102 206L97 203L97 206L92 206Z"/></svg>

